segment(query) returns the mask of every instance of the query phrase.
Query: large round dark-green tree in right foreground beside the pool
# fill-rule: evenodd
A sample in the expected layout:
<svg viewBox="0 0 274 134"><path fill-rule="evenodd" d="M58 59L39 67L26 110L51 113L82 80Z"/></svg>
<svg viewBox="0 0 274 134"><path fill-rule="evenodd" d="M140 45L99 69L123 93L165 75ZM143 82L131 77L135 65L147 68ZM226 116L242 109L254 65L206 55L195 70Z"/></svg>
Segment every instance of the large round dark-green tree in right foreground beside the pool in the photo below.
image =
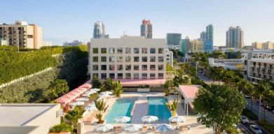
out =
<svg viewBox="0 0 274 134"><path fill-rule="evenodd" d="M240 119L246 101L238 90L226 85L211 84L200 88L193 102L194 110L201 114L198 121L212 127L215 134L231 128Z"/></svg>

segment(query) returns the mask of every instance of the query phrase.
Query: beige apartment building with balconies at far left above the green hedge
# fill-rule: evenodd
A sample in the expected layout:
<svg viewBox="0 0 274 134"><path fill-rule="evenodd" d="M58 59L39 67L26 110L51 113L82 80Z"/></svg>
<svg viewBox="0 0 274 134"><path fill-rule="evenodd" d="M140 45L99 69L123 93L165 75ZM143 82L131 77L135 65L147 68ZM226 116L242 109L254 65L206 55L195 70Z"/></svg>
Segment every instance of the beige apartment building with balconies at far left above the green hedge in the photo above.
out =
<svg viewBox="0 0 274 134"><path fill-rule="evenodd" d="M36 24L16 21L15 24L0 24L0 38L8 45L39 49L43 45L43 29Z"/></svg>

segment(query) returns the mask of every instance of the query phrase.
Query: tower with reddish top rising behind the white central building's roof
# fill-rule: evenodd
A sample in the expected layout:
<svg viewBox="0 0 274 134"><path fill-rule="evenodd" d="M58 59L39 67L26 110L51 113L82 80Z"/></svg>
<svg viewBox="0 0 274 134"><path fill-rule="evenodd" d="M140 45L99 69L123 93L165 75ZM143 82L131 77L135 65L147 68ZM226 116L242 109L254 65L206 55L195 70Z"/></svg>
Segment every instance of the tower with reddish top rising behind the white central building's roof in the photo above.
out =
<svg viewBox="0 0 274 134"><path fill-rule="evenodd" d="M150 20L142 21L141 36L144 36L144 38L152 38L152 23Z"/></svg>

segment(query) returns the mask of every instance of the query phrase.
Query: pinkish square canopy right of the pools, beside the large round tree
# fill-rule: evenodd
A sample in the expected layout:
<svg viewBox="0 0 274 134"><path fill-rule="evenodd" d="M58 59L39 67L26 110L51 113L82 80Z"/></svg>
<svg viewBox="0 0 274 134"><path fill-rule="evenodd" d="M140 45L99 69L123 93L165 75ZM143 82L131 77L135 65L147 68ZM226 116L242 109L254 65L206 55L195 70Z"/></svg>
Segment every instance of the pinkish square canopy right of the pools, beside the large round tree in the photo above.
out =
<svg viewBox="0 0 274 134"><path fill-rule="evenodd" d="M179 85L179 91L181 94L184 94L186 98L194 98L199 87L199 85Z"/></svg>

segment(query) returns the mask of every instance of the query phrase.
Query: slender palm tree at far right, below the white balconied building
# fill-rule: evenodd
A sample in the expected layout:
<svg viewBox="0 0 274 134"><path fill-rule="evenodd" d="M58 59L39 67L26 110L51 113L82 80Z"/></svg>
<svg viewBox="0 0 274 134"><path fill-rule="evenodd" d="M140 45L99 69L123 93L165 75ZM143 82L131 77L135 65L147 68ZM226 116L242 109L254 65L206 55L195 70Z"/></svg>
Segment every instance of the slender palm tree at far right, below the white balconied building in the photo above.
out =
<svg viewBox="0 0 274 134"><path fill-rule="evenodd" d="M265 101L265 96L270 91L270 84L266 80L262 80L258 84L257 94L259 94L260 102L259 105L261 106L261 98L263 98L263 103ZM266 107L263 106L263 117L266 119ZM259 107L259 119L261 119L261 107Z"/></svg>

